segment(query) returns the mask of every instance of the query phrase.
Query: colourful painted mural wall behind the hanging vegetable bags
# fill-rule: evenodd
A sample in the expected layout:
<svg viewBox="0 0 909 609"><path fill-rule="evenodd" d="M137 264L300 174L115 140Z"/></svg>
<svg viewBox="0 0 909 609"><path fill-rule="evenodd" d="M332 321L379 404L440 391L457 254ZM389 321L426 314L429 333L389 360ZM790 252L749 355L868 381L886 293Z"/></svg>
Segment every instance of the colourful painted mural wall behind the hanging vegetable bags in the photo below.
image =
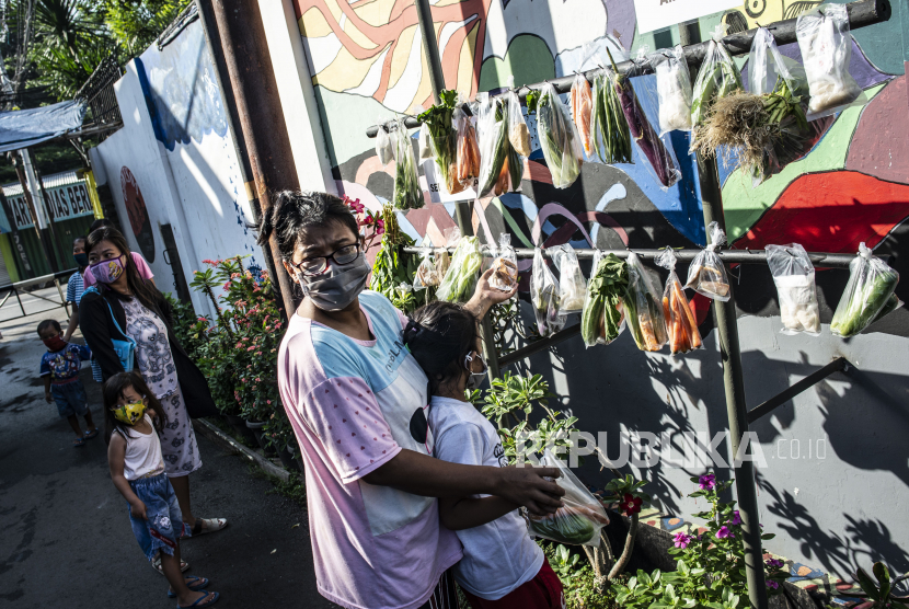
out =
<svg viewBox="0 0 909 609"><path fill-rule="evenodd" d="M380 166L366 128L432 102L415 9L411 0L292 1L337 188L376 209L391 198L394 166ZM626 57L645 45L654 49L679 39L675 28L640 35L631 0L430 3L446 83L471 97L505 87L511 76L520 85L590 68L585 45ZM748 0L738 10L702 18L701 37L718 24L743 31L818 3ZM752 188L741 172L722 165L721 180L733 248L795 241L809 251L855 252L864 241L891 256L904 276L897 292L909 300L909 39L904 35L909 8L891 5L888 22L854 32L850 72L866 102L819 124L812 150L760 186ZM797 44L781 51L801 59ZM745 60L737 59L740 67ZM634 87L653 90L654 78L636 78ZM654 122L656 108L645 111ZM531 129L534 124L531 119ZM513 243L525 246L702 246L689 138L675 133L671 141L683 179L666 192L637 158L633 164L585 163L577 182L560 191L537 150L525 164L520 193L474 203L474 228L486 242L507 231ZM454 226L451 205L427 203L401 215L401 225L418 240L441 244L442 232ZM909 455L899 439L909 433L909 312L898 310L850 341L831 336L829 329L818 338L783 336L767 267L743 265L734 274L749 406L832 357L844 356L858 367L752 427L770 460L759 478L761 518L768 529L786 532L770 550L812 565L798 567L809 577L819 575L814 567L845 576L877 559L909 568L909 524L864 502L868 494L897 504L909 501ZM818 272L825 323L847 278L844 271ZM529 368L550 381L562 407L579 416L585 429L611 438L637 430L668 433L674 446L686 433L712 436L726 428L721 361L709 302L699 297L695 303L707 336L705 352L684 358L645 355L626 336L585 352L578 341L566 341L531 358ZM808 441L822 443L825 457L804 460ZM664 513L698 510L683 498L690 492L688 475L698 471L656 467L637 473L649 481ZM592 464L587 475L602 474Z"/></svg>

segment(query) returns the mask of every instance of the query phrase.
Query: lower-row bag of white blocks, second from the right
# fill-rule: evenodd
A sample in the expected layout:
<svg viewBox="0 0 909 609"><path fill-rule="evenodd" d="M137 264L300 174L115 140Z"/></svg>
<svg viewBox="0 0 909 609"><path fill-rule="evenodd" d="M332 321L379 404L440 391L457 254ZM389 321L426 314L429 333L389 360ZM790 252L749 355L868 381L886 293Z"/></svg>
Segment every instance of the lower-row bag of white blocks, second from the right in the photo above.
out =
<svg viewBox="0 0 909 609"><path fill-rule="evenodd" d="M783 334L805 332L820 334L820 313L817 304L815 267L805 248L768 245L767 264L776 285Z"/></svg>

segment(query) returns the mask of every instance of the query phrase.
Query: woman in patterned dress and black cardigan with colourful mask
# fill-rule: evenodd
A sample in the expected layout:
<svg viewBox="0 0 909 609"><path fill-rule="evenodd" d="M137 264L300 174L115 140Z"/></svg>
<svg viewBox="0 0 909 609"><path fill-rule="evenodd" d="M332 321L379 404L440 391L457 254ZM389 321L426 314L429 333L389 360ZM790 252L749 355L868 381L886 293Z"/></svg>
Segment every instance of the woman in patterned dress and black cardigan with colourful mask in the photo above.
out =
<svg viewBox="0 0 909 609"><path fill-rule="evenodd" d="M168 415L161 432L164 469L174 487L184 522L193 535L220 530L223 518L196 518L189 503L189 474L202 467L189 416L216 414L205 376L173 333L171 306L150 280L139 275L126 239L102 227L85 242L89 269L97 286L82 296L82 334L101 365L106 381L123 365L112 341L136 342L135 366ZM125 333L125 334L124 334Z"/></svg>

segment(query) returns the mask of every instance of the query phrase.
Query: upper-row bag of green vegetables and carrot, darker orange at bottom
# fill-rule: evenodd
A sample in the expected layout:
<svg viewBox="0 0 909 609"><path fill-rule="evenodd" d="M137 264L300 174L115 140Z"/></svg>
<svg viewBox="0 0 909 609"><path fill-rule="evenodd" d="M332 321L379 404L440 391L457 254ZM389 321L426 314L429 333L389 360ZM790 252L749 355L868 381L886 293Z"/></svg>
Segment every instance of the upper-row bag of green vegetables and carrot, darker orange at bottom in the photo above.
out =
<svg viewBox="0 0 909 609"><path fill-rule="evenodd" d="M523 162L508 139L508 100L480 93L480 187L477 196L502 195L520 188Z"/></svg>

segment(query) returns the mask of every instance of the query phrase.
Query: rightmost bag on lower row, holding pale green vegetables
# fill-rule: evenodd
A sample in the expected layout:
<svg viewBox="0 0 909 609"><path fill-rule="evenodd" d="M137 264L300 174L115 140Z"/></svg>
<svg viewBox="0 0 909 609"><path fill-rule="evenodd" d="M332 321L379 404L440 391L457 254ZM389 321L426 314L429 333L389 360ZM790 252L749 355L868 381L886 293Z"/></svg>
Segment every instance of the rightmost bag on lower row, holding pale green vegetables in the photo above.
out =
<svg viewBox="0 0 909 609"><path fill-rule="evenodd" d="M859 255L849 263L849 283L837 304L830 331L849 338L871 325L882 309L893 307L890 298L898 283L899 273L874 257L864 242L860 243Z"/></svg>

